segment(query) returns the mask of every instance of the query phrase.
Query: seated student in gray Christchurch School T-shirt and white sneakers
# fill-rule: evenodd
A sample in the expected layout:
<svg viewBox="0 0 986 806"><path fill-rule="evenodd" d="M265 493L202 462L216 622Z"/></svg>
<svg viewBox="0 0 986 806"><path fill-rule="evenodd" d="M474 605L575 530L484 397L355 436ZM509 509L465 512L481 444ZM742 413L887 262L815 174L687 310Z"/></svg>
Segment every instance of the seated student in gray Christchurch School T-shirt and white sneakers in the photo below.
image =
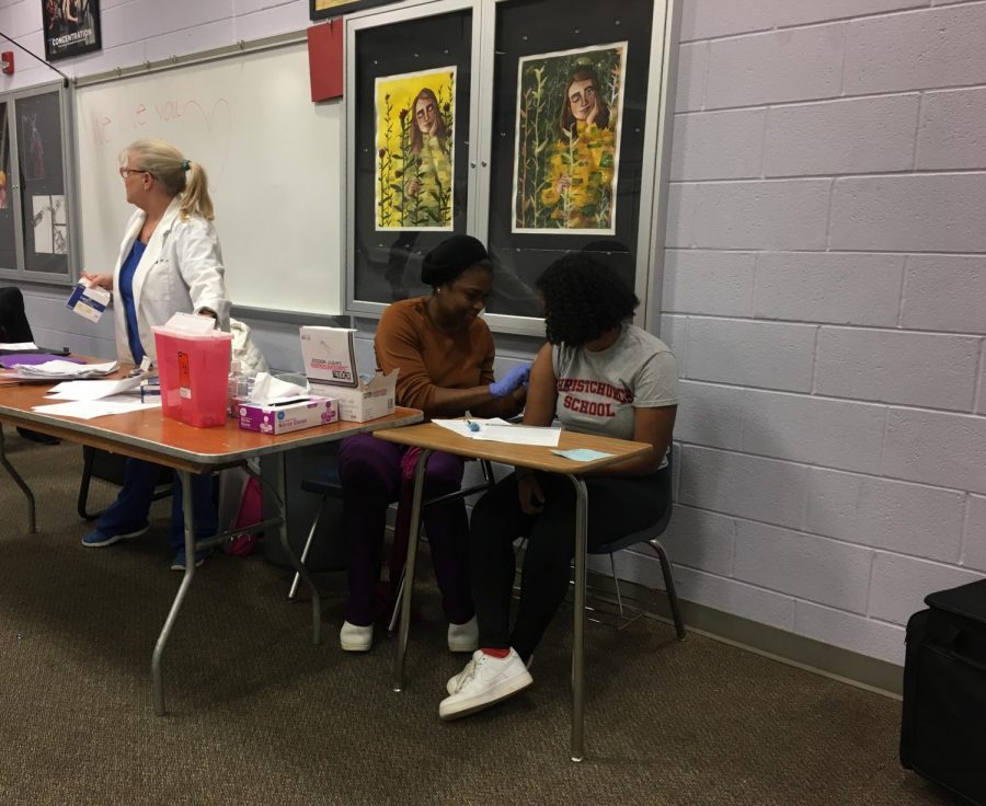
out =
<svg viewBox="0 0 986 806"><path fill-rule="evenodd" d="M650 442L654 451L591 475L588 544L654 523L670 506L663 484L678 403L675 357L631 324L637 297L609 269L575 253L538 279L548 344L530 372L526 425L558 417L574 431ZM528 538L520 604L511 627L513 543ZM472 511L469 571L479 646L448 681L444 719L466 716L530 686L527 663L569 588L575 551L575 490L564 476L517 470Z"/></svg>

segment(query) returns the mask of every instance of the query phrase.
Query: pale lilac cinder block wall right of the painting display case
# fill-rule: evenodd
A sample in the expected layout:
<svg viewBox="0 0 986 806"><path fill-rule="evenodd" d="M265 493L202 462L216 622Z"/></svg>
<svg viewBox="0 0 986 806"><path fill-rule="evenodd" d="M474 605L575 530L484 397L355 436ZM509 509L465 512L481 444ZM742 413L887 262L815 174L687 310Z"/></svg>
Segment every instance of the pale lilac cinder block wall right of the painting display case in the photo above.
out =
<svg viewBox="0 0 986 806"><path fill-rule="evenodd" d="M685 0L681 43L680 592L902 663L986 571L986 2Z"/></svg>

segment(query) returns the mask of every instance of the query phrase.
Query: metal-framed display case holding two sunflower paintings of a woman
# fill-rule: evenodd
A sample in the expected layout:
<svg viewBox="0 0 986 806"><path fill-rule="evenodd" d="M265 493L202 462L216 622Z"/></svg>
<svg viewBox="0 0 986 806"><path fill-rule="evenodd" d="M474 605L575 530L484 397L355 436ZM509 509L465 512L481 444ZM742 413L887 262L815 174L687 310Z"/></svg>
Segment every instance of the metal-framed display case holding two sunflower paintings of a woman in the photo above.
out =
<svg viewBox="0 0 986 806"><path fill-rule="evenodd" d="M657 310L673 4L432 0L347 16L347 311L427 293L423 255L450 232L486 245L495 331L543 333L537 278L570 252Z"/></svg>

